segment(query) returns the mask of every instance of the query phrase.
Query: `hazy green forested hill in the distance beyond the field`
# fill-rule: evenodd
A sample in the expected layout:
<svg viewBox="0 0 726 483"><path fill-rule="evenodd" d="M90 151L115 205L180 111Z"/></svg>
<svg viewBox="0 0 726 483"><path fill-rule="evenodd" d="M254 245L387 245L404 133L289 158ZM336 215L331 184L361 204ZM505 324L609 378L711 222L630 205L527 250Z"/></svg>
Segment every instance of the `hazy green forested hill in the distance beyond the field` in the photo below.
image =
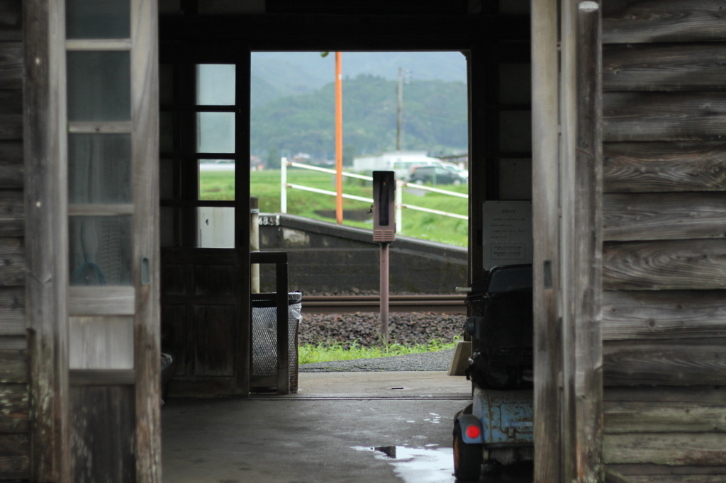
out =
<svg viewBox="0 0 726 483"><path fill-rule="evenodd" d="M253 96L254 98L254 96ZM358 75L343 81L343 144L356 154L396 148L396 81ZM419 80L404 86L402 149L433 153L467 149L467 88L461 81ZM265 156L335 156L335 86L274 99L251 112L251 149Z"/></svg>

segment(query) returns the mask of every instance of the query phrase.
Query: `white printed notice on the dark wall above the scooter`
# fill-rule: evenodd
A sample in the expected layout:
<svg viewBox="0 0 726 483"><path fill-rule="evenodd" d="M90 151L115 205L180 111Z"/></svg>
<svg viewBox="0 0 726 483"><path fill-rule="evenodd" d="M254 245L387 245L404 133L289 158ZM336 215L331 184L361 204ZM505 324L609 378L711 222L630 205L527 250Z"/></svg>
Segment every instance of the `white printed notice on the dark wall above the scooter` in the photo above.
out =
<svg viewBox="0 0 726 483"><path fill-rule="evenodd" d="M484 270L532 263L532 202L484 202Z"/></svg>

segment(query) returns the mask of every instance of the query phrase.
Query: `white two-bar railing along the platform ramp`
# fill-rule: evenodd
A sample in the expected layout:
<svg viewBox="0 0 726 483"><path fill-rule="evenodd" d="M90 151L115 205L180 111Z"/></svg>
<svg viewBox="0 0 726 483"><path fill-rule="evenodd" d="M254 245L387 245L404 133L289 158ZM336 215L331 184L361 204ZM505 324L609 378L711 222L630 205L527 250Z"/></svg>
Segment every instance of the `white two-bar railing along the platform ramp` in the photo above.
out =
<svg viewBox="0 0 726 483"><path fill-rule="evenodd" d="M287 161L287 158L283 157L282 162L280 162L280 212L281 213L287 213L287 189L298 189L300 191L309 191L310 193L317 193L317 194L325 194L327 196L338 196L335 191L328 191L327 189L319 189L319 188L311 188L310 186L302 186L300 184L293 184L293 183L287 183L287 168L300 168L303 170L310 170L310 171L318 171L319 173L330 173L335 174L335 170L331 170L328 168L320 168L319 166L311 166L311 165L305 165L301 162L294 162L294 161ZM356 178L356 179L362 179L364 181L373 181L373 178L371 176L365 176L365 175L359 175L356 173L346 173L343 171L343 176L346 176L347 178ZM459 215L457 213L451 213L441 210L433 210L431 208L426 208L423 206L416 206L416 205L409 205L407 203L403 202L403 188L409 186L409 183L406 181L396 180L396 199L394 200L395 206L396 206L396 233L401 232L401 227L403 226L403 210L414 210L414 211L420 211L424 213L431 213L432 215L441 215L441 216L447 216L449 218L457 218L459 220L468 220L469 217L465 215ZM420 189L423 191L431 191L432 193L438 193L438 194L446 194L448 196L457 197L457 198L463 198L463 199L469 199L468 194L463 193L456 193L454 191L448 191L446 189L439 189L439 188L433 188L433 186L423 186L419 184L413 184L410 185L414 187L415 189ZM373 203L372 198L366 198L366 197L359 197L354 194L345 194L343 193L343 198L345 199L353 199L355 201L364 202L364 203Z"/></svg>

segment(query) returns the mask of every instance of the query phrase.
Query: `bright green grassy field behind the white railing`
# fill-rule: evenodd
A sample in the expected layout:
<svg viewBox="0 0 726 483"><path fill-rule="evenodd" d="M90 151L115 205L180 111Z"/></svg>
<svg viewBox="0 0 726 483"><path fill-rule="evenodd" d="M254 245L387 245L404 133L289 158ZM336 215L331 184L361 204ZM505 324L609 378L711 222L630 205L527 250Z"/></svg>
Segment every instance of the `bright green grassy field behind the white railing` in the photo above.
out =
<svg viewBox="0 0 726 483"><path fill-rule="evenodd" d="M261 212L280 211L280 171L253 171L250 173L250 193L260 200ZM307 170L290 168L287 170L287 182L313 188L335 191L333 175L315 173ZM372 188L362 186L362 181L348 179L343 185L343 192L355 194L359 197L372 197ZM441 189L466 193L467 186L438 186ZM234 172L232 171L202 171L200 175L201 199L234 199ZM421 190L404 189L403 202L408 205L417 205L433 210L468 214L466 199L449 197L444 194L425 193ZM364 202L343 200L343 211L367 210L370 205ZM318 220L335 221L334 218L324 218L316 214L320 210L335 210L335 197L324 194L309 193L295 189L287 190L287 212ZM363 221L344 220L347 226L371 229L371 223ZM413 210L404 210L403 227L401 234L418 239L440 241L466 247L468 244L468 223L440 215L431 215Z"/></svg>

